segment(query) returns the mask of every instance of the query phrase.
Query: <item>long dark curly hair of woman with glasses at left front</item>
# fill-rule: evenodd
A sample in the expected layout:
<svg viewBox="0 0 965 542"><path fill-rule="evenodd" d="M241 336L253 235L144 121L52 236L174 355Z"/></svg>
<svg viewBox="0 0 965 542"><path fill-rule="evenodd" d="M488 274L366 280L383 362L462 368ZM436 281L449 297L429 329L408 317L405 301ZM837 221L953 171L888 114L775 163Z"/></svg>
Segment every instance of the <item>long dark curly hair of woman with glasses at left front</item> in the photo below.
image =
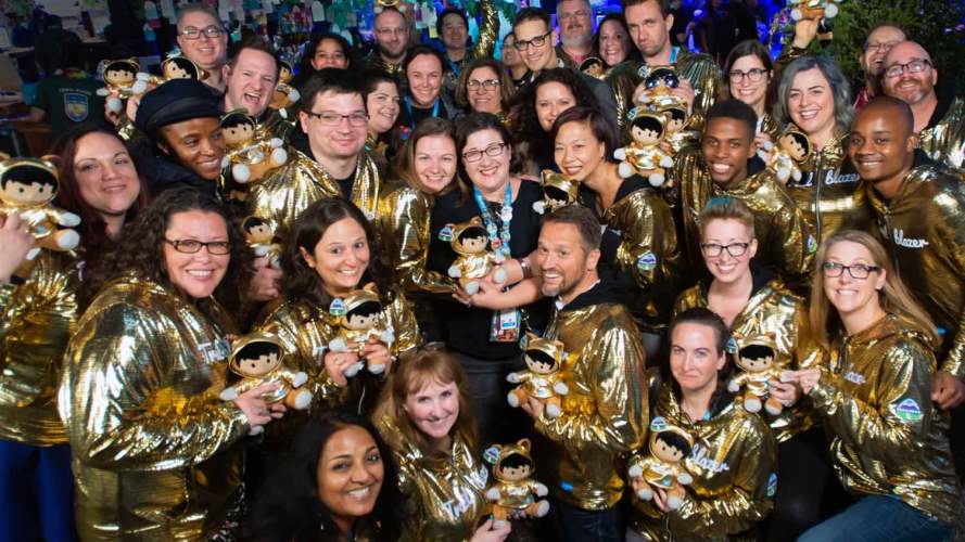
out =
<svg viewBox="0 0 965 542"><path fill-rule="evenodd" d="M230 260L227 273L213 297L225 301L229 309L243 307L249 298L247 285L254 274L252 251L244 242L244 235L230 208L215 196L189 186L162 192L132 223L124 227L117 248L104 258L98 276L88 279L96 285L93 291L103 287L107 281L134 273L168 291L180 292L167 275L165 233L172 217L192 210L213 212L225 220L228 244L231 246ZM206 311L208 304L208 299L198 301L203 311Z"/></svg>

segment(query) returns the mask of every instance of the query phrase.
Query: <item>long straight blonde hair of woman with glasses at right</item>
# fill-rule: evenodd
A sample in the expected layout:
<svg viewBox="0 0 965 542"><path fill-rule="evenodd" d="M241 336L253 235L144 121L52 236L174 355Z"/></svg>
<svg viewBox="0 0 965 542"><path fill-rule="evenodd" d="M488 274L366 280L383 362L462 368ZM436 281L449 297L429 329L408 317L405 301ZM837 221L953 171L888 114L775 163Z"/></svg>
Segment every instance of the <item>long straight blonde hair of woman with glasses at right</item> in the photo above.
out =
<svg viewBox="0 0 965 542"><path fill-rule="evenodd" d="M840 318L837 311L831 311L830 302L824 291L824 275L821 268L827 257L830 247L838 243L849 241L856 243L867 249L872 255L875 266L885 271L885 287L878 292L878 302L881 308L891 314L896 314L913 330L924 333L928 337L930 346L938 347L941 343L938 331L931 322L931 318L915 300L912 293L901 282L894 267L878 241L859 230L839 230L827 238L817 250L817 272L811 281L811 308L809 310L810 331L814 340L824 347L830 348L830 336L841 327Z"/></svg>

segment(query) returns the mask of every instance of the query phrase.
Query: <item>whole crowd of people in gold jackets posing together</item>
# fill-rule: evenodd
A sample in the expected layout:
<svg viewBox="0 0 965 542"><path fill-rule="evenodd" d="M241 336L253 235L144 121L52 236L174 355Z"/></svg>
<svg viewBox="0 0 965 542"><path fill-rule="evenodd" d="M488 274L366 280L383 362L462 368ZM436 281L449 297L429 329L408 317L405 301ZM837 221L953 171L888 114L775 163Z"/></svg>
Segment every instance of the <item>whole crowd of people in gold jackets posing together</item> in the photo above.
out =
<svg viewBox="0 0 965 542"><path fill-rule="evenodd" d="M474 44L385 5L288 82L186 4L203 78L0 163L80 219L38 253L4 206L0 539L953 540L965 103L928 51L872 28L852 93L816 20L721 66L661 0L561 0L496 61L480 4ZM285 151L253 180L239 112ZM627 170L647 115L672 165Z"/></svg>

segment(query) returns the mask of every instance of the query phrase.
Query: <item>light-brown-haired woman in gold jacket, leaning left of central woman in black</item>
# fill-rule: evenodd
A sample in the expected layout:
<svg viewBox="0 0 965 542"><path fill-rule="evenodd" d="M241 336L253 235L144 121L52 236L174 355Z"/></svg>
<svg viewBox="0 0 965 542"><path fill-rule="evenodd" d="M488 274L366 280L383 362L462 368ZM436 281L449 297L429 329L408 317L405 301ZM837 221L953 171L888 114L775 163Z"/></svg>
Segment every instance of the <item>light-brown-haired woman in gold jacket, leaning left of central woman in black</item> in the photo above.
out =
<svg viewBox="0 0 965 542"><path fill-rule="evenodd" d="M440 339L439 322L427 294L450 295L452 279L427 266L430 218L436 196L450 190L458 166L453 125L427 118L403 144L396 156L396 181L379 196L374 225L394 282L414 307L419 328L431 340Z"/></svg>

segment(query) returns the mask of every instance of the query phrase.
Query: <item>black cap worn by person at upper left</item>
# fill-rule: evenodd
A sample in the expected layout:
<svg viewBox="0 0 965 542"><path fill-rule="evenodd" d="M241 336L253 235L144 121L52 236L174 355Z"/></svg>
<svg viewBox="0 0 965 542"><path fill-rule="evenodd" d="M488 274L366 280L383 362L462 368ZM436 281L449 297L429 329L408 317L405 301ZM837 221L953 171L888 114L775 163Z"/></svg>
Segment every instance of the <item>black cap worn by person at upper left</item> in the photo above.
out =
<svg viewBox="0 0 965 542"><path fill-rule="evenodd" d="M134 125L144 133L192 118L221 116L218 99L195 79L174 79L144 94Z"/></svg>

